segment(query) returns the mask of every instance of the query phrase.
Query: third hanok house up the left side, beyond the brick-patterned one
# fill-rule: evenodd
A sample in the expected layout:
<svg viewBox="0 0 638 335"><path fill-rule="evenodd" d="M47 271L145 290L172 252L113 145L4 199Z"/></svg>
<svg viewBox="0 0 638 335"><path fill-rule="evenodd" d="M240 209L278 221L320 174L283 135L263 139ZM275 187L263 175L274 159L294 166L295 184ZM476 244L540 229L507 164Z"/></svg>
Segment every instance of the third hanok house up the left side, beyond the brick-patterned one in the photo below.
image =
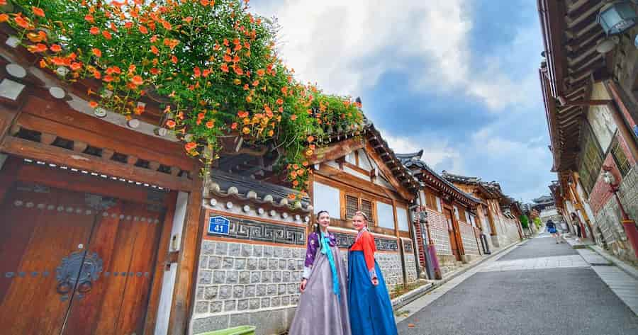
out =
<svg viewBox="0 0 638 335"><path fill-rule="evenodd" d="M503 194L499 183L496 181L488 183L481 181L481 178L459 176L447 171L443 171L442 176L464 192L482 200L477 212L480 221L483 222L483 231L491 236L488 242L491 249L520 241L522 238L520 219L510 209L515 202ZM520 212L520 209L517 212Z"/></svg>

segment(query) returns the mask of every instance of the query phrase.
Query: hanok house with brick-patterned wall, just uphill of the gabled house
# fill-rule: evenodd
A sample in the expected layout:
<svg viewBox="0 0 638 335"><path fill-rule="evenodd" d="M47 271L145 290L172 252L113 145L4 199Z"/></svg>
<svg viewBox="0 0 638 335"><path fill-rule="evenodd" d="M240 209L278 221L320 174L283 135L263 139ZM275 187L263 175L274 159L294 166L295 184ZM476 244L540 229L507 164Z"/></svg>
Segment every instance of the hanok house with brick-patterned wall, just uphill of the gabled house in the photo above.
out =
<svg viewBox="0 0 638 335"><path fill-rule="evenodd" d="M429 278L434 279L461 263L478 259L486 250L480 247L481 223L476 218L481 200L430 169L421 160L422 154L421 150L397 156L421 183L418 201L427 219L415 225L419 261Z"/></svg>

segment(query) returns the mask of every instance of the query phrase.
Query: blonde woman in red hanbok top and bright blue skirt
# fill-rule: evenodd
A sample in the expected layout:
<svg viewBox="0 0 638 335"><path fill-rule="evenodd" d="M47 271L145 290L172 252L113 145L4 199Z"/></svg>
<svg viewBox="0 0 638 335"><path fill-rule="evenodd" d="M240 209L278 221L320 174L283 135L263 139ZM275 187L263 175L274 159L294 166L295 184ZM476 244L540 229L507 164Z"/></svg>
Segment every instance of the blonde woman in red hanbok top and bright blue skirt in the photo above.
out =
<svg viewBox="0 0 638 335"><path fill-rule="evenodd" d="M348 307L352 335L397 335L392 303L381 268L374 259L374 237L368 217L355 212L352 225L359 232L348 252Z"/></svg>

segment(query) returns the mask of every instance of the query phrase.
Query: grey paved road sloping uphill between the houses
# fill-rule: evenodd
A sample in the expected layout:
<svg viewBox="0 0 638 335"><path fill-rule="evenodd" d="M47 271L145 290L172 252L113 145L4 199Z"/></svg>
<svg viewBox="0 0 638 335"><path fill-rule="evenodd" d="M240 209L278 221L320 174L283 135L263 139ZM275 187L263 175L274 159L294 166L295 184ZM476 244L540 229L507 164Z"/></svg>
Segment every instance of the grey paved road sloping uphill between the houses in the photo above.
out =
<svg viewBox="0 0 638 335"><path fill-rule="evenodd" d="M636 314L578 253L551 237L488 261L427 303L398 324L399 334L638 334Z"/></svg>

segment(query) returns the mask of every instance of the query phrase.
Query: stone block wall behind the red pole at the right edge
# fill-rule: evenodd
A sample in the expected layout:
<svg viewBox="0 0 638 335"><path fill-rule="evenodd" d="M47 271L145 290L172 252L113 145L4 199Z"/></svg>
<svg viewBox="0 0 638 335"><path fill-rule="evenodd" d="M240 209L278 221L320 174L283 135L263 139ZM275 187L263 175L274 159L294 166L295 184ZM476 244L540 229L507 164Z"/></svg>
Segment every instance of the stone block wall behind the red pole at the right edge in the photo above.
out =
<svg viewBox="0 0 638 335"><path fill-rule="evenodd" d="M638 168L636 165L629 171L620 184L618 193L627 215L638 220ZM625 229L621 225L620 208L616 200L611 198L595 216L595 237L598 244L607 244L616 256L625 261L638 263L631 244L627 240ZM600 230L600 232L598 232ZM600 238L602 234L603 239Z"/></svg>

